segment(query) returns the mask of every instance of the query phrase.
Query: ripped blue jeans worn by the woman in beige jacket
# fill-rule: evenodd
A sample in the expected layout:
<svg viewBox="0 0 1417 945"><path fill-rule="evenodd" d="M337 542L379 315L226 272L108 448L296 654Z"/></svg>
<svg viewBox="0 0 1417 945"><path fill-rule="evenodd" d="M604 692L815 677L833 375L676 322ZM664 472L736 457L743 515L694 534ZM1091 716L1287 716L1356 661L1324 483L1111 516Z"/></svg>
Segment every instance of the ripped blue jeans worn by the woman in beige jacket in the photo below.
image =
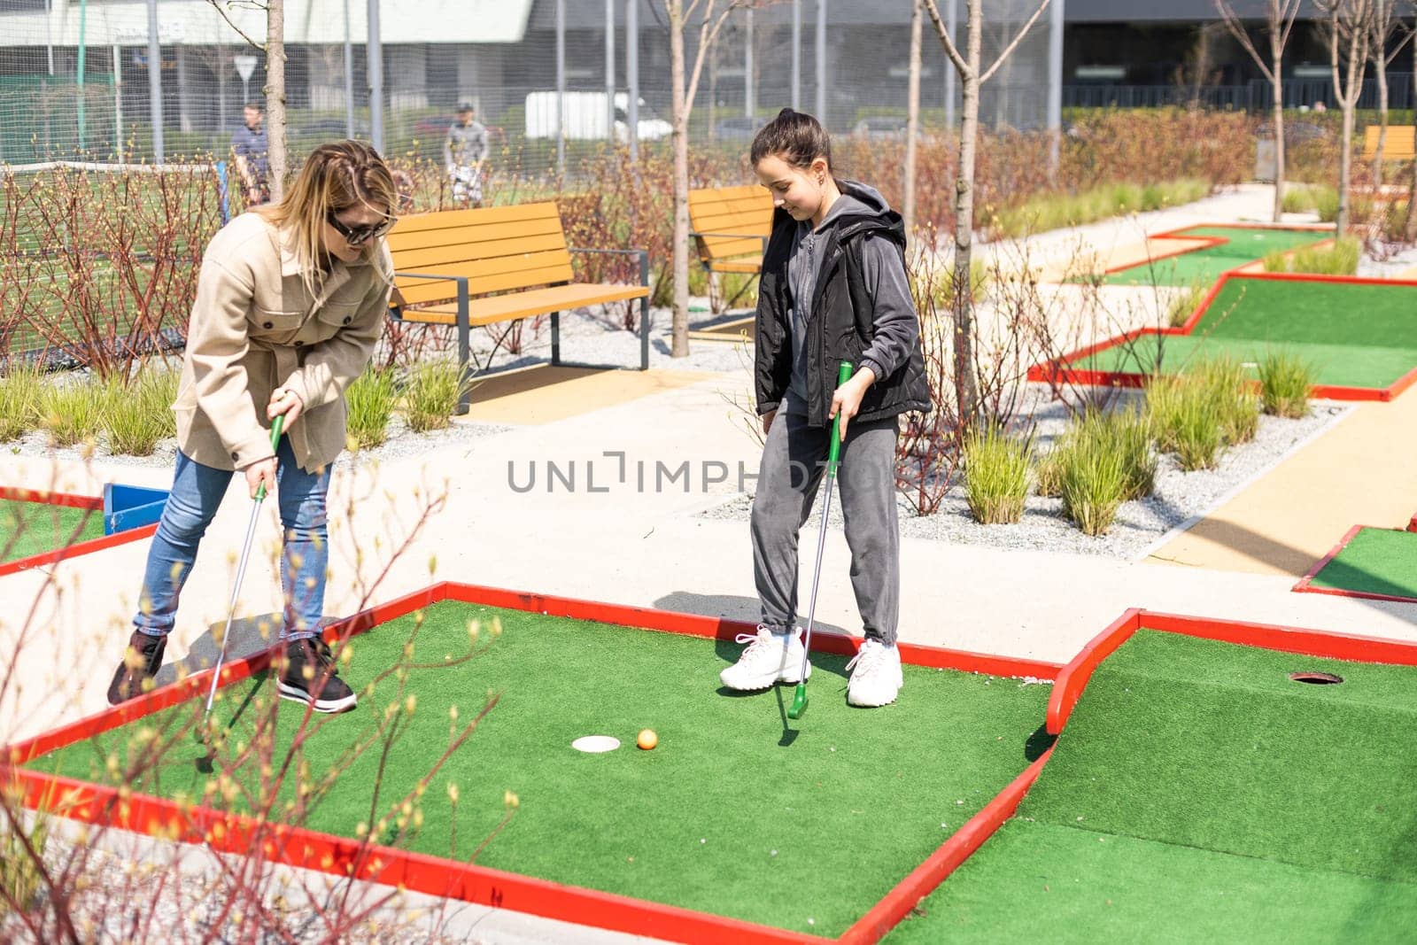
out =
<svg viewBox="0 0 1417 945"><path fill-rule="evenodd" d="M285 591L285 623L281 639L298 640L319 633L324 611L324 567L330 557L326 494L330 470L307 473L296 465L290 441L276 449L276 499L285 528L281 554L281 587ZM163 506L157 534L147 551L143 591L133 625L143 633L166 636L173 629L181 585L197 560L197 545L207 534L234 473L213 469L179 451L173 490Z"/></svg>

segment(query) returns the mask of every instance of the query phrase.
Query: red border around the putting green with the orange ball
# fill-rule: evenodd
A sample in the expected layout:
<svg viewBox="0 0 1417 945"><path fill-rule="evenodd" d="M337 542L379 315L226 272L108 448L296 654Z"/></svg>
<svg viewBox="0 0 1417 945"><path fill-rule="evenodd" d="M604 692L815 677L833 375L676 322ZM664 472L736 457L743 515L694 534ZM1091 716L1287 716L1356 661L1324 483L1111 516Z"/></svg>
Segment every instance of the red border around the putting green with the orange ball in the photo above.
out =
<svg viewBox="0 0 1417 945"><path fill-rule="evenodd" d="M327 628L324 633L332 640L364 633L380 623L439 601L483 604L708 639L731 639L737 633L754 629L750 623L721 618L445 581L356 613ZM854 653L857 643L853 638L835 633L822 633L815 636L812 642L819 650L837 655ZM931 646L901 645L900 649L905 663L996 676L1054 679L1061 669L1057 663ZM272 650L265 650L228 663L221 670L222 684L230 686L265 669L271 657ZM171 800L145 795L119 796L115 788L57 778L18 766L55 748L174 706L204 691L210 681L211 670L196 673L142 698L16 744L0 754L0 775L23 788L24 803L30 808L45 808L88 823L160 834L187 843L203 843L217 851L244 853L249 849L251 837L258 836L256 826L248 817L220 815L208 808L181 806ZM925 863L913 870L837 939L548 883L393 847L361 844L347 837L306 829L279 830L273 842L265 844L264 851L271 861L289 866L672 941L774 944L836 941L864 945L877 941L904 918L915 902L932 891L1013 813L1041 771L1046 758L1047 754L1023 771L989 805L945 840Z"/></svg>

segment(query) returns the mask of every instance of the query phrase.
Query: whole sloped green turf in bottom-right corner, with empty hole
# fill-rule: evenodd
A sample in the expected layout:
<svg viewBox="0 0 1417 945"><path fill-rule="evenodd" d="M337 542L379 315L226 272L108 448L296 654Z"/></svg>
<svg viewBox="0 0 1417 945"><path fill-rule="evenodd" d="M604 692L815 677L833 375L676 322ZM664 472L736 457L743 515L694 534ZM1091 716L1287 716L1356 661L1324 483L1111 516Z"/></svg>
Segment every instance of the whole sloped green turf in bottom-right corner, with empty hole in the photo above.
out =
<svg viewBox="0 0 1417 945"><path fill-rule="evenodd" d="M1414 728L1414 667L1141 630L898 941L1396 941L1417 922Z"/></svg>

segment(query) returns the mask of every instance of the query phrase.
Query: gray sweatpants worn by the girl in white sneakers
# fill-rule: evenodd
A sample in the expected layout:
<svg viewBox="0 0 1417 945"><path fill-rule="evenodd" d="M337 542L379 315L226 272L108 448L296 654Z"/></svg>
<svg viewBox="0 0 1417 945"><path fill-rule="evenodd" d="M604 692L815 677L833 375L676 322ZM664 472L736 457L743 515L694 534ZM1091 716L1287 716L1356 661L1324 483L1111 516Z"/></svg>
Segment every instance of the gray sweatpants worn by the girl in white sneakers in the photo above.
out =
<svg viewBox="0 0 1417 945"><path fill-rule="evenodd" d="M826 473L830 432L809 426L806 417L779 412L762 448L752 500L752 570L762 623L775 632L796 625L798 531ZM867 638L887 645L896 642L900 618L896 435L894 417L849 424L836 469L862 626Z"/></svg>

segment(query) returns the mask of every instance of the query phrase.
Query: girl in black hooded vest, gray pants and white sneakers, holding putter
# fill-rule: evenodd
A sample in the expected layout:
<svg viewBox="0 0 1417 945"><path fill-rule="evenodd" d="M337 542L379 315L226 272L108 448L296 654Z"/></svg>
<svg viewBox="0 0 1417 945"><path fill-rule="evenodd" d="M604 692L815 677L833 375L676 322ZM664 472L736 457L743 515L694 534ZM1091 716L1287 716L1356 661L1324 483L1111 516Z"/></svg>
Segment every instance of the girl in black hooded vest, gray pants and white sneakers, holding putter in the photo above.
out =
<svg viewBox="0 0 1417 945"><path fill-rule="evenodd" d="M757 133L750 157L775 205L755 343L767 436L752 502L762 622L740 638L748 646L720 681L734 690L801 681L798 531L825 473L832 418L840 415L837 486L866 636L849 664L846 696L852 706L886 706L903 684L897 418L931 408L905 230L874 188L832 176L830 139L811 115L782 109ZM842 361L854 374L836 387Z"/></svg>

